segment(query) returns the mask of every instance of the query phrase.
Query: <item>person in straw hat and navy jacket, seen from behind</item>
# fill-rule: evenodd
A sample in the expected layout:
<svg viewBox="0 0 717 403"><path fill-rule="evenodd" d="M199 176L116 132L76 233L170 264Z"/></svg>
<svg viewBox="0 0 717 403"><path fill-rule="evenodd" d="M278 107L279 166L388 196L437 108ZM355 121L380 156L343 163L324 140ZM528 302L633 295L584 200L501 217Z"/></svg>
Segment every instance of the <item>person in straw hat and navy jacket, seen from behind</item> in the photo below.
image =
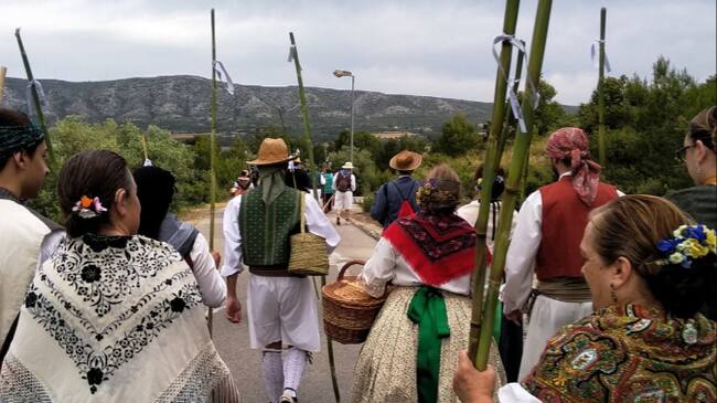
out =
<svg viewBox="0 0 717 403"><path fill-rule="evenodd" d="M398 179L378 188L374 205L371 208L371 216L378 221L384 229L396 219L418 211L416 191L421 183L411 178L411 173L420 167L422 160L424 157L420 153L403 150L388 161L388 166L398 173Z"/></svg>

